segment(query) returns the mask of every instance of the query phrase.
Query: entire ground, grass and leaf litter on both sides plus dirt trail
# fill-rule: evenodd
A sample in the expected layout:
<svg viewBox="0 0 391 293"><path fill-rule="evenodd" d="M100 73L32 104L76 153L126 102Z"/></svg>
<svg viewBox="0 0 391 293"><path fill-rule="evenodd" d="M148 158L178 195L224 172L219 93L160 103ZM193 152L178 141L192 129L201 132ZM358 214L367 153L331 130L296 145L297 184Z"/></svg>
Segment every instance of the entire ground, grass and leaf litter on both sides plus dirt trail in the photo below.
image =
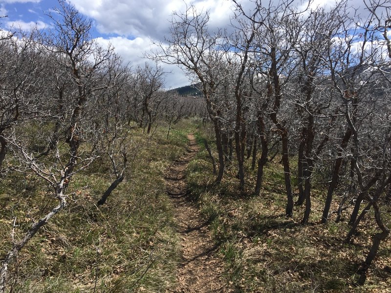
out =
<svg viewBox="0 0 391 293"><path fill-rule="evenodd" d="M201 122L181 121L169 138L166 126L152 136L133 128L126 179L103 206L96 202L112 182L109 158L75 174L68 207L10 266L7 293L391 293L390 237L381 243L366 284L356 284L378 231L373 212L346 243L352 206L338 223L332 214L321 224L328 178L317 172L310 223L301 225L304 206L286 218L278 155L265 166L260 196L253 194L257 170L250 159L246 195L238 192L235 162L216 185L203 146L207 140L216 149L213 129ZM297 158L291 167L297 186ZM343 191L337 190L331 210L338 209ZM1 178L0 255L12 248L13 236L21 239L57 205L51 194L33 174L10 170ZM382 203L381 210L391 227L391 205Z"/></svg>

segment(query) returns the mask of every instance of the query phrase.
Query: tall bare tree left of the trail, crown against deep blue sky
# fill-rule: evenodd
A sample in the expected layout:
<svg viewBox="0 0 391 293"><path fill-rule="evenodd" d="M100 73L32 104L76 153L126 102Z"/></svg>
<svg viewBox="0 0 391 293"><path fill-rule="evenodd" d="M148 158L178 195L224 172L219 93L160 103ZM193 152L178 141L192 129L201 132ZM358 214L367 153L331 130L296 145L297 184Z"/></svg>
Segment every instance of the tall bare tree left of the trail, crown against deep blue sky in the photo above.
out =
<svg viewBox="0 0 391 293"><path fill-rule="evenodd" d="M103 49L90 36L91 21L85 19L74 6L66 1L59 1L60 8L55 8L56 14L48 16L54 22L47 33L42 35L46 50L55 53L66 73L72 81L75 93L70 97L71 114L66 124L65 141L70 146L69 172L72 172L78 159L78 149L82 142L85 106L94 92L105 89L108 84L102 83L105 66L112 60L112 48ZM92 60L92 62L91 62ZM64 108L64 110L67 110Z"/></svg>

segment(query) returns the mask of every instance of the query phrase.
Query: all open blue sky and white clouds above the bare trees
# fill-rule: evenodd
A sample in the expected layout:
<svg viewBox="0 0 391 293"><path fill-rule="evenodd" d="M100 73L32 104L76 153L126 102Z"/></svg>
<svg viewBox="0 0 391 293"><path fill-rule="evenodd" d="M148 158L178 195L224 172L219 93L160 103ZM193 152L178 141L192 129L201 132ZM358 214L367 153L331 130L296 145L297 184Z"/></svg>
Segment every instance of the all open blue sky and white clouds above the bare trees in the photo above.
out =
<svg viewBox="0 0 391 293"><path fill-rule="evenodd" d="M170 33L171 15L174 10L184 11L193 3L198 11L209 10L209 27L226 28L230 24L233 2L231 0L67 0L79 12L90 18L94 27L93 38L102 45L109 43L131 66L143 65L148 60L145 52L153 47L153 42L164 42ZM244 10L251 11L253 1L238 0ZM299 1L299 0L297 0ZM306 0L303 0L304 5ZM368 1L368 0L367 0ZM268 3L268 1L262 1ZM335 0L313 0L312 7L333 5ZM349 0L349 5L363 12L363 0ZM40 29L50 25L45 13L58 6L57 0L0 0L1 28L10 30L12 25L28 30L37 24ZM188 78L174 65L163 65L167 75L166 87L174 88L189 84Z"/></svg>

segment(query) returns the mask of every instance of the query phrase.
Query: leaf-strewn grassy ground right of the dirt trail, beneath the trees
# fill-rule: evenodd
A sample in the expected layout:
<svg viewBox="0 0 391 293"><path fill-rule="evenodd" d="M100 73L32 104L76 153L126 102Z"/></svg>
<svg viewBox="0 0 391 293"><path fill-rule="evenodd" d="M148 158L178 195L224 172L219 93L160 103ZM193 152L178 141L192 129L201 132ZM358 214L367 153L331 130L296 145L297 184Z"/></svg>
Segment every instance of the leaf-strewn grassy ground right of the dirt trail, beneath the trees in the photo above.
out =
<svg viewBox="0 0 391 293"><path fill-rule="evenodd" d="M199 129L199 141L205 130ZM248 160L250 161L250 160ZM201 148L187 169L189 186L220 247L227 282L236 292L388 292L391 288L391 241L381 243L365 286L356 286L357 270L368 254L376 232L373 213L360 224L353 244L345 244L348 216L335 216L320 224L325 202L324 186L312 191L310 224L301 225L304 207L295 206L294 217L285 217L283 168L276 158L265 168L261 196L254 196L256 171L246 162L247 195L239 194L237 170L228 167L219 186L214 185L212 165ZM294 166L292 161L292 166ZM293 170L294 172L294 170ZM297 192L297 190L295 190ZM335 196L332 210L338 208ZM384 206L386 226L390 207Z"/></svg>

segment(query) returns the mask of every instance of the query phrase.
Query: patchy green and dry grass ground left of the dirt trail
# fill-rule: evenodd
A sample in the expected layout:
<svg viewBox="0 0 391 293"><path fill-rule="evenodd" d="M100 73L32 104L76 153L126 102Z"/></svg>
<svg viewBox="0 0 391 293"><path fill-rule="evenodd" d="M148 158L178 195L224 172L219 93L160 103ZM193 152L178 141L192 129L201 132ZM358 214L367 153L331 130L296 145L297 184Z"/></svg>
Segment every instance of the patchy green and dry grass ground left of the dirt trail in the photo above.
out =
<svg viewBox="0 0 391 293"><path fill-rule="evenodd" d="M8 292L165 292L173 286L178 245L164 171L184 151L192 124L153 136L132 129L136 155L125 180L97 207L112 182L107 158L71 180L68 207L22 249L10 267ZM57 203L36 176L9 172L0 180L0 255ZM15 221L15 225L14 225ZM15 226L15 227L14 227ZM14 230L14 231L13 231Z"/></svg>

